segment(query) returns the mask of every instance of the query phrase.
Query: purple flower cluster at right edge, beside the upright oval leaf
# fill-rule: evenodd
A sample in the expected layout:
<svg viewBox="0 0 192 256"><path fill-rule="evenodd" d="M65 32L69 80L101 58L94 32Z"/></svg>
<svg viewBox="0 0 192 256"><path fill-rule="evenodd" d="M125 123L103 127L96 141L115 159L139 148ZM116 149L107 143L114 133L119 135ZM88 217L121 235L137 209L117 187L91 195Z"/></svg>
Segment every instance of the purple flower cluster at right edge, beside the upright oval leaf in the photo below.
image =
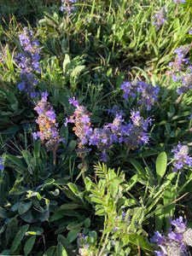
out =
<svg viewBox="0 0 192 256"><path fill-rule="evenodd" d="M174 171L181 170L183 166L192 166L192 157L189 156L189 147L178 143L177 148L172 149L174 152Z"/></svg>

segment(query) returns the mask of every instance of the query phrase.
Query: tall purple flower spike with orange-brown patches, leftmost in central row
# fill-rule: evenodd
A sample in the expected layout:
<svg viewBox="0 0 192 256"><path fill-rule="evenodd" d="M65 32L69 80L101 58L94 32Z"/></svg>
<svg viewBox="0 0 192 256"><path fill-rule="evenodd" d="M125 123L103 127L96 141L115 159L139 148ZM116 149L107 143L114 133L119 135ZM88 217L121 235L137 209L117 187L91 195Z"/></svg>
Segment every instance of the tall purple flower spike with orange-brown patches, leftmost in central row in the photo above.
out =
<svg viewBox="0 0 192 256"><path fill-rule="evenodd" d="M32 135L35 139L40 137L41 142L46 141L45 146L48 149L55 151L58 148L59 143L64 139L60 138L59 131L57 130L58 124L55 120L55 111L47 102L48 92L42 93L42 99L38 102L38 105L34 108L38 112L38 119L36 122L39 125L38 132L34 132Z"/></svg>

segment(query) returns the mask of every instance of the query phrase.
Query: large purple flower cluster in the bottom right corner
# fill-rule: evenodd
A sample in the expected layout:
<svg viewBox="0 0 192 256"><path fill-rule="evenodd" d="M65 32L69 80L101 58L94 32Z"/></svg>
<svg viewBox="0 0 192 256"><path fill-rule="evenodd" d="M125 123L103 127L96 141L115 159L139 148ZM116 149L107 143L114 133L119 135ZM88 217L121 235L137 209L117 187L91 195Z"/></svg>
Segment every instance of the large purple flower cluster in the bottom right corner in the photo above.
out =
<svg viewBox="0 0 192 256"><path fill-rule="evenodd" d="M168 236L163 236L159 231L154 233L154 236L150 239L151 242L156 242L160 251L154 251L158 256L173 256L173 255L189 255L186 244L192 245L192 230L186 227L186 220L183 223L183 217L179 217L175 220L170 218L172 227L169 230Z"/></svg>

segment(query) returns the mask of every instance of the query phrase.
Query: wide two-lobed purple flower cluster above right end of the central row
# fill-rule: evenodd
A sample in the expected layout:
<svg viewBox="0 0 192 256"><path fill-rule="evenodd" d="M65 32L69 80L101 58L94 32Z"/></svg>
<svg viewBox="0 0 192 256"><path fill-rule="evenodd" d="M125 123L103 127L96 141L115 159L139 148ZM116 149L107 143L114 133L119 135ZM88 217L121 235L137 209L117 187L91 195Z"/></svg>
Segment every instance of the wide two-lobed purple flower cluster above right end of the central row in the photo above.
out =
<svg viewBox="0 0 192 256"><path fill-rule="evenodd" d="M133 80L132 82L125 82L121 84L120 89L124 90L124 99L128 99L129 96L135 98L137 93L140 94L138 104L147 107L147 110L151 109L151 106L154 105L154 102L157 101L157 95L160 91L158 86L152 84L146 84L139 80Z"/></svg>

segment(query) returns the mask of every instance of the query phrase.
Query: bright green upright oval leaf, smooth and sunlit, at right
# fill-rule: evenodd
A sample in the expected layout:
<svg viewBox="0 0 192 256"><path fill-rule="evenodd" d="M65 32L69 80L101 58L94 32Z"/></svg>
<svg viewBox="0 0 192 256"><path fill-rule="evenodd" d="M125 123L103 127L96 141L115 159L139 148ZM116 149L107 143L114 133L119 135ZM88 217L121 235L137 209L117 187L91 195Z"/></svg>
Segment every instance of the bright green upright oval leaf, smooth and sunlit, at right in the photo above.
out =
<svg viewBox="0 0 192 256"><path fill-rule="evenodd" d="M158 155L156 160L156 173L158 178L158 184L160 184L160 181L166 172L166 166L167 166L166 152L162 152Z"/></svg>

